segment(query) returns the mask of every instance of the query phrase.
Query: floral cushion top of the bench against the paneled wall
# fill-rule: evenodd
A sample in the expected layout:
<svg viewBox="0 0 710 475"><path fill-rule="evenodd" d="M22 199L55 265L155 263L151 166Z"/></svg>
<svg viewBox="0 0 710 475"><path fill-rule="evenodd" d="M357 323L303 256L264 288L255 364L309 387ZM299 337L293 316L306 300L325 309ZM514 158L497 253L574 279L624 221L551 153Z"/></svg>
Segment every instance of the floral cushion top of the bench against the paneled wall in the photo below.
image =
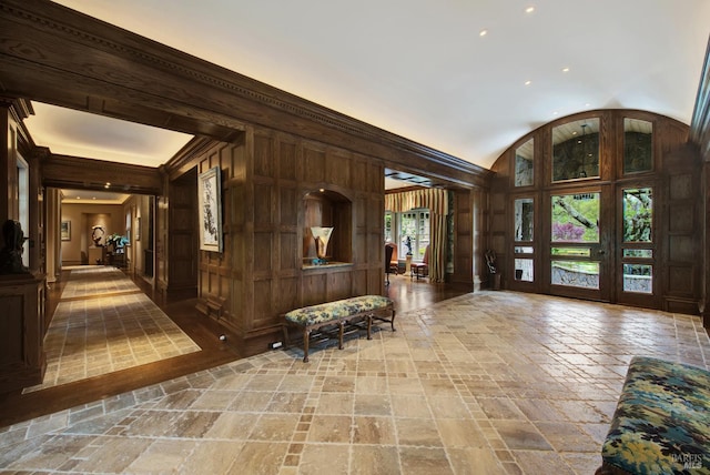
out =
<svg viewBox="0 0 710 475"><path fill-rule="evenodd" d="M363 295L292 310L284 316L288 322L311 326L333 320L346 319L359 313L387 309L393 301L382 295Z"/></svg>

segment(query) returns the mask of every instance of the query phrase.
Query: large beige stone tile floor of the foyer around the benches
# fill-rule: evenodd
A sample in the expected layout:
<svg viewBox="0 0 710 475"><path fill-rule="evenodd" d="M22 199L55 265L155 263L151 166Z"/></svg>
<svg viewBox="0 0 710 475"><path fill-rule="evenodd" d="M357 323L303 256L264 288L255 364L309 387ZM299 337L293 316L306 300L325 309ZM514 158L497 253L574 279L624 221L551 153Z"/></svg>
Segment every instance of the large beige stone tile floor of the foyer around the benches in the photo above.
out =
<svg viewBox="0 0 710 475"><path fill-rule="evenodd" d="M699 317L513 292L0 428L41 473L592 474L632 355L708 367Z"/></svg>

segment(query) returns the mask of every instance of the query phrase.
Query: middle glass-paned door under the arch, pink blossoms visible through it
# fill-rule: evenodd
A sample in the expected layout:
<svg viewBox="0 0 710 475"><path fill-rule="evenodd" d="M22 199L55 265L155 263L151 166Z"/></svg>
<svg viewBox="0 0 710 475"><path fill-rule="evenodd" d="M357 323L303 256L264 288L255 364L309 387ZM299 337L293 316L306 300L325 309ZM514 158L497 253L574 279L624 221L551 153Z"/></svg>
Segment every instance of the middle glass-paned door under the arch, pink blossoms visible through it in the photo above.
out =
<svg viewBox="0 0 710 475"><path fill-rule="evenodd" d="M551 294L609 301L608 194L602 188L548 194L545 262Z"/></svg>

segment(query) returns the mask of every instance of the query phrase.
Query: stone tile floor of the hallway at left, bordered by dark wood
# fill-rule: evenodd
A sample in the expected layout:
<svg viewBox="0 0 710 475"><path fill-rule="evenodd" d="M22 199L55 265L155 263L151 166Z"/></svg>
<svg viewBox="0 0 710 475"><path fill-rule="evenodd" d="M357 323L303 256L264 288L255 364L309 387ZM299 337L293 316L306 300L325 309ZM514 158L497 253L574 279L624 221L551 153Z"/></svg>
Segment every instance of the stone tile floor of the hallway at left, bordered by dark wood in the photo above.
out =
<svg viewBox="0 0 710 475"><path fill-rule="evenodd" d="M44 337L44 381L23 393L200 351L123 272L85 266L69 279Z"/></svg>

